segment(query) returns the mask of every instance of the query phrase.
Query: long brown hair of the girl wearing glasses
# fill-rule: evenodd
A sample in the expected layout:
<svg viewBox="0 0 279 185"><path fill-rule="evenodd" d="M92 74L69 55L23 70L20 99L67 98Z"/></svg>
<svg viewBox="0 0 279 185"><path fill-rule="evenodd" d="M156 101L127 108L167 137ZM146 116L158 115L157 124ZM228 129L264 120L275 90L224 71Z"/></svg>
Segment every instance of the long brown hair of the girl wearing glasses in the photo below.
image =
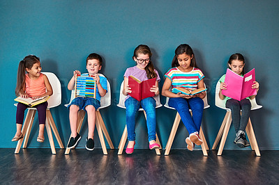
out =
<svg viewBox="0 0 279 185"><path fill-rule="evenodd" d="M151 56L152 56L151 50L147 45L139 45L138 47L136 47L135 51L134 51L133 59L134 59L134 57L137 58L137 56L139 56L139 54L148 54L149 58L151 58ZM146 65L144 70L146 71L146 75L147 75L148 79L157 78L157 74L154 70L154 66L153 66L151 60L149 61L148 65Z"/></svg>

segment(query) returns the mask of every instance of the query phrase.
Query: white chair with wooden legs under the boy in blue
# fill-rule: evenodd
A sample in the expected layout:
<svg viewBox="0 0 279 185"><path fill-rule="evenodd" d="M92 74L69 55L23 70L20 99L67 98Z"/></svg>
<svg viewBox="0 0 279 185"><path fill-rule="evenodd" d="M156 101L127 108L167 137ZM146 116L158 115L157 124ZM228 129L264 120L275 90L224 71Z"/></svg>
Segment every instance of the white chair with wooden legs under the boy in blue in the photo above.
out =
<svg viewBox="0 0 279 185"><path fill-rule="evenodd" d="M103 74L99 74L100 77L105 77ZM70 102L75 98L75 90L72 90L71 96L70 96ZM105 108L107 106L110 106L112 102L111 97L111 90L110 90L110 82L107 80L107 93L105 96L101 97L100 99L100 107L96 110L96 128L98 131L98 136L100 138L100 145L102 146L103 154L107 155L107 147L105 146L105 140L104 136L107 139L107 143L110 145L111 149L114 149L114 145L112 144L112 140L110 139L110 135L107 132L107 128L105 127L105 123L103 121L102 116L100 115L100 109ZM69 103L70 104L70 103ZM69 104L66 104L67 107ZM77 133L80 133L80 129L82 128L82 122L84 120L85 111L81 110L78 112L78 118L77 118ZM70 136L71 137L71 136ZM70 138L69 141L70 142ZM67 144L68 146L68 144ZM70 153L70 148L66 148L65 154Z"/></svg>

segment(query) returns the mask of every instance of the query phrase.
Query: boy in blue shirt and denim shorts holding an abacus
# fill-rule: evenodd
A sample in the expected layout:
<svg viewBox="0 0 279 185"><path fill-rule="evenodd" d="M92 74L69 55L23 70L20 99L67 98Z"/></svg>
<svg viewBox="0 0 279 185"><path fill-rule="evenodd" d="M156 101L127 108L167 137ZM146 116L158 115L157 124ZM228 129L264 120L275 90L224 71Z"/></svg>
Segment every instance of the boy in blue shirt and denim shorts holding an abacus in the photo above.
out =
<svg viewBox="0 0 279 185"><path fill-rule="evenodd" d="M98 54L90 54L86 58L86 69L89 72L88 74L82 74L82 76L93 75L93 79L96 80L97 88L96 88L96 99L92 97L76 97L73 101L68 105L70 110L69 118L70 118L70 130L71 130L71 138L68 143L68 148L73 148L77 145L77 142L80 140L81 136L77 133L77 112L83 109L87 112L87 120L88 120L88 137L86 138L86 149L93 150L94 149L94 129L95 129L95 121L96 121L96 110L100 107L100 97L105 96L107 93L107 79L105 77L100 77L98 75L98 71L102 68L103 60ZM80 71L75 70L73 72L73 77L70 79L68 83L68 90L73 90L75 88L75 74L80 74Z"/></svg>

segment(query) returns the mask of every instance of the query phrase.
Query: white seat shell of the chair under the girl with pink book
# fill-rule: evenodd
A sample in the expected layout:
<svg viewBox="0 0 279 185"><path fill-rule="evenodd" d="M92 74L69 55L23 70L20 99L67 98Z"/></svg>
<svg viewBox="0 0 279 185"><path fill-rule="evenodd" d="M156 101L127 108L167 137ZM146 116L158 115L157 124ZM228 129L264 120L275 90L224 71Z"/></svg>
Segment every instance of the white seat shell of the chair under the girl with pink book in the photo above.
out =
<svg viewBox="0 0 279 185"><path fill-rule="evenodd" d="M219 108L223 108L227 111L231 111L229 108L226 108L226 101L225 99L220 99L219 97L219 91L220 91L220 81L218 81L216 85L216 90L215 90L215 105L218 106ZM256 98L250 99L251 102L251 110L256 110L259 108L262 108L261 105L258 105L256 102Z"/></svg>

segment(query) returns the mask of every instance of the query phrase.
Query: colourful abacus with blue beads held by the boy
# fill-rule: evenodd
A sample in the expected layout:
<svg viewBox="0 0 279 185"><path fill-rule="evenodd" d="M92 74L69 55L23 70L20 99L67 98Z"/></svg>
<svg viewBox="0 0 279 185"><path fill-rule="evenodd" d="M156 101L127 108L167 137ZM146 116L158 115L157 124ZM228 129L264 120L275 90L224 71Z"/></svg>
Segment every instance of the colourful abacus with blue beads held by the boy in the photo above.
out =
<svg viewBox="0 0 279 185"><path fill-rule="evenodd" d="M75 97L96 98L96 81L93 75L75 74Z"/></svg>

